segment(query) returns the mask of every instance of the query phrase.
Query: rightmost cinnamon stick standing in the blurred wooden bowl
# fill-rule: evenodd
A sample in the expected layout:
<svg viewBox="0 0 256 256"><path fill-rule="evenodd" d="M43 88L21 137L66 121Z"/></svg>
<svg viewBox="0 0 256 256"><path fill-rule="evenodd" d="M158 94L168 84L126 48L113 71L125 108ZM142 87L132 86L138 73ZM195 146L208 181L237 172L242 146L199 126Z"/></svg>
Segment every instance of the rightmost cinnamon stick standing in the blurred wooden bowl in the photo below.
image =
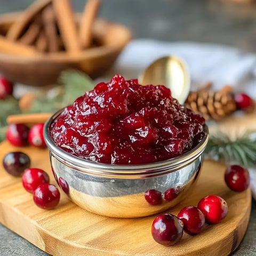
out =
<svg viewBox="0 0 256 256"><path fill-rule="evenodd" d="M92 25L100 7L100 0L88 0L82 15L79 28L79 42L83 49L92 44Z"/></svg>

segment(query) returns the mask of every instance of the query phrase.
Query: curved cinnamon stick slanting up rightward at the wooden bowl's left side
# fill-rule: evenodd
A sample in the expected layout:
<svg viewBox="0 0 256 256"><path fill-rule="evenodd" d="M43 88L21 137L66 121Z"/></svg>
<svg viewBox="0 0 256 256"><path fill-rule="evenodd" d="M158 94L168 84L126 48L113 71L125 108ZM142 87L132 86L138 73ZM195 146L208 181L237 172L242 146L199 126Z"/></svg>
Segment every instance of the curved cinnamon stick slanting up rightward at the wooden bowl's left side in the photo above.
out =
<svg viewBox="0 0 256 256"><path fill-rule="evenodd" d="M52 0L38 0L31 4L27 10L25 10L20 17L13 23L7 32L6 37L12 41L17 40L22 31L26 28L28 23L35 17L39 12L41 12L45 6L50 4ZM61 2L61 1L60 1Z"/></svg>

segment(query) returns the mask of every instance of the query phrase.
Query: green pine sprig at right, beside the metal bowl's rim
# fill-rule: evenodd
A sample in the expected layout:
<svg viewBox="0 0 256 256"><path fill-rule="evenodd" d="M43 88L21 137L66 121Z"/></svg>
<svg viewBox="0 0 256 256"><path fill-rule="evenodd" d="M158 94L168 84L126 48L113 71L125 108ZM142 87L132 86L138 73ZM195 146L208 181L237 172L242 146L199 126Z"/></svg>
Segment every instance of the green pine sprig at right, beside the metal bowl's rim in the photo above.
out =
<svg viewBox="0 0 256 256"><path fill-rule="evenodd" d="M211 135L205 149L206 158L225 163L237 163L245 167L256 166L256 131L245 134L231 140L230 137L219 132Z"/></svg>

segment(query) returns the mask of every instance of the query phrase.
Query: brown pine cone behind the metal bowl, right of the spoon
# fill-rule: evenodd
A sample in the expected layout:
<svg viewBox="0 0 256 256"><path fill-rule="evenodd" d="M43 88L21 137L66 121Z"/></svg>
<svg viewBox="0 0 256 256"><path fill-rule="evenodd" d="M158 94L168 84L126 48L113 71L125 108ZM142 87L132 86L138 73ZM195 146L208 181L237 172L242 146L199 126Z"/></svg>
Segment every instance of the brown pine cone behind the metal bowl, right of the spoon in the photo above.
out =
<svg viewBox="0 0 256 256"><path fill-rule="evenodd" d="M230 115L236 110L231 86L225 86L217 92L208 90L190 92L185 106L203 115L205 119L215 120Z"/></svg>

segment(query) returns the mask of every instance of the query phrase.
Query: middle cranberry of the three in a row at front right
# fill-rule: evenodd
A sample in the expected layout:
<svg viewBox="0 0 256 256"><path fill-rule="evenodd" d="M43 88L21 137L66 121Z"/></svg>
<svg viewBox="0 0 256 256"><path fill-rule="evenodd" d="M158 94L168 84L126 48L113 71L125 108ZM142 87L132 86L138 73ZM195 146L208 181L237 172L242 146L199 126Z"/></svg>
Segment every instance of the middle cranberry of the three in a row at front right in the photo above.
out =
<svg viewBox="0 0 256 256"><path fill-rule="evenodd" d="M196 206L187 206L180 210L177 217L184 223L184 230L190 235L201 232L205 224L204 213Z"/></svg>

